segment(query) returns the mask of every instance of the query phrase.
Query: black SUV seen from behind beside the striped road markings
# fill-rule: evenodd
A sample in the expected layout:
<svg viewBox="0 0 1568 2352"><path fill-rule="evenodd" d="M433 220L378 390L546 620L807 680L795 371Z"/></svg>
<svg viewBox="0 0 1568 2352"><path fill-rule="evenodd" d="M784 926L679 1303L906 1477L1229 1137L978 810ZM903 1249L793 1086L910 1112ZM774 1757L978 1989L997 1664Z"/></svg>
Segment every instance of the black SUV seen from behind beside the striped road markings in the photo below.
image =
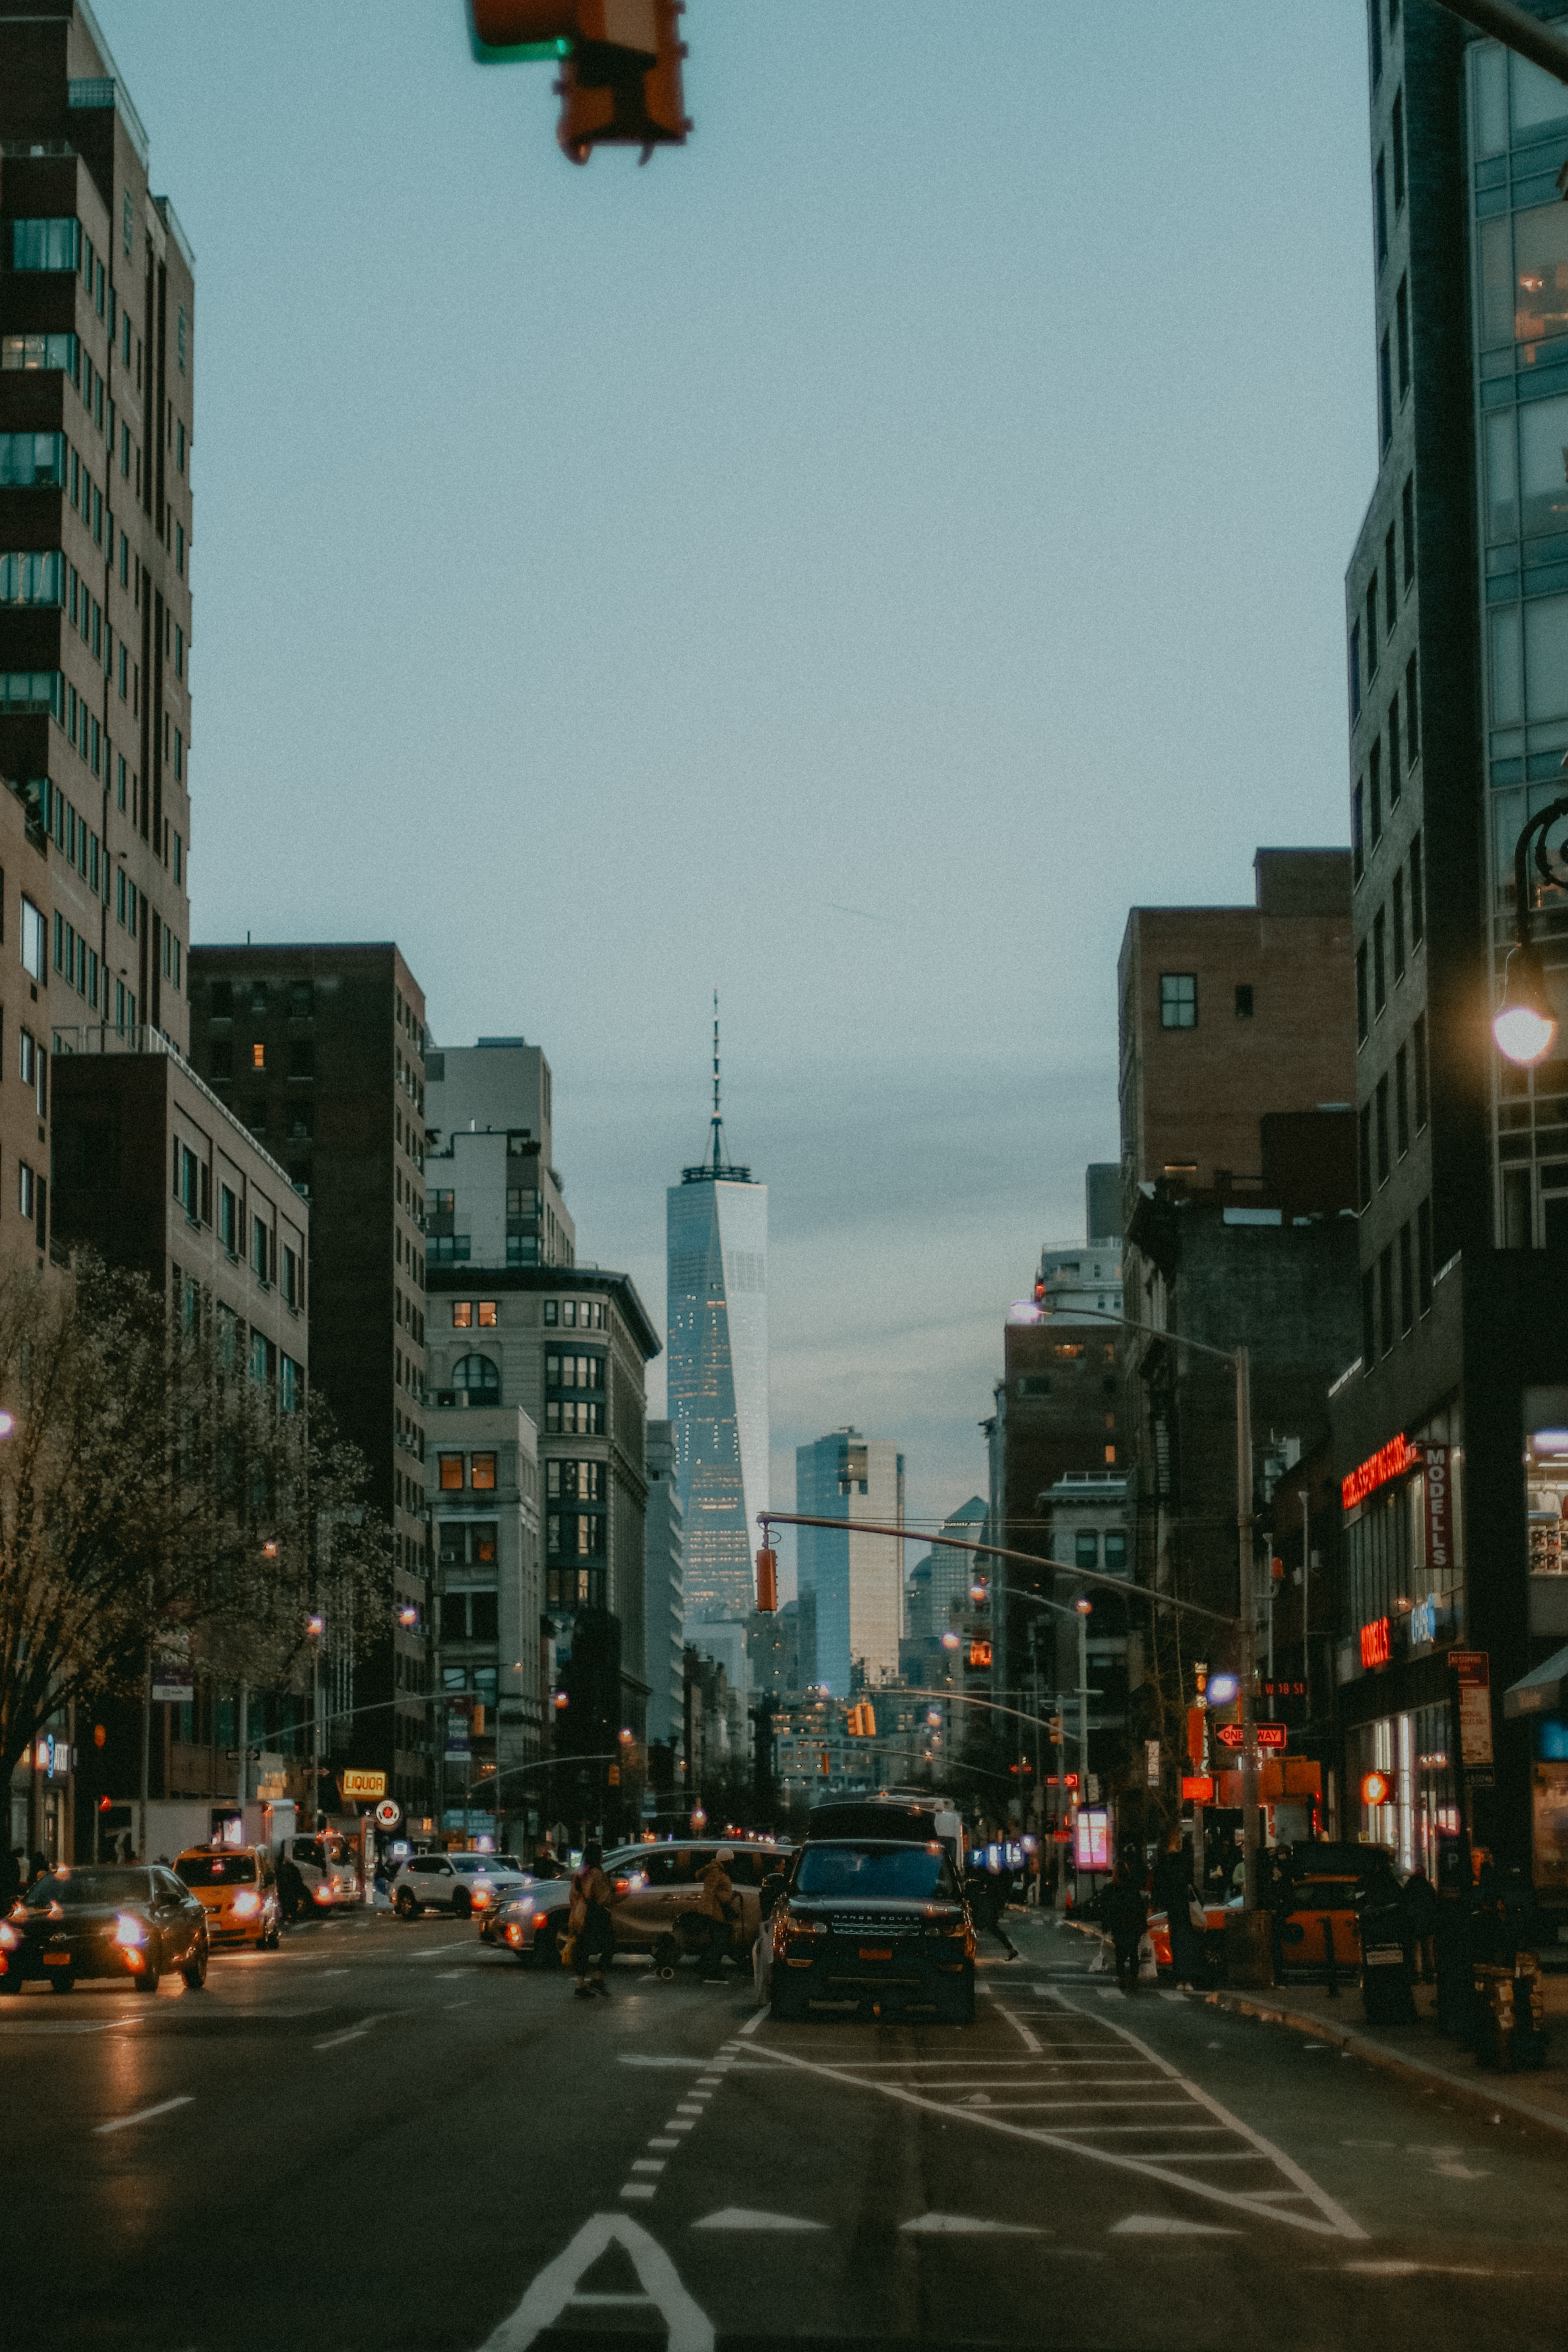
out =
<svg viewBox="0 0 1568 2352"><path fill-rule="evenodd" d="M835 2009L976 2018L976 1929L943 1839L806 1837L773 1907L776 2018Z"/></svg>

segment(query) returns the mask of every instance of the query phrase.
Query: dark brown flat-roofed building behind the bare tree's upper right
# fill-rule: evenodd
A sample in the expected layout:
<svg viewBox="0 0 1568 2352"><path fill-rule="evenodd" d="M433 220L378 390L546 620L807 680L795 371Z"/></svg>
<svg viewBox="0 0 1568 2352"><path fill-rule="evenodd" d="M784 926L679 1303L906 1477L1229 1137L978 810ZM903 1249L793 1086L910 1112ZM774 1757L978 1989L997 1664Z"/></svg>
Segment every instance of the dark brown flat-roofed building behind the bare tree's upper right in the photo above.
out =
<svg viewBox="0 0 1568 2352"><path fill-rule="evenodd" d="M393 1529L355 1752L435 1830L425 1501L425 995L395 946L197 948L190 1058L310 1202L310 1385Z"/></svg>

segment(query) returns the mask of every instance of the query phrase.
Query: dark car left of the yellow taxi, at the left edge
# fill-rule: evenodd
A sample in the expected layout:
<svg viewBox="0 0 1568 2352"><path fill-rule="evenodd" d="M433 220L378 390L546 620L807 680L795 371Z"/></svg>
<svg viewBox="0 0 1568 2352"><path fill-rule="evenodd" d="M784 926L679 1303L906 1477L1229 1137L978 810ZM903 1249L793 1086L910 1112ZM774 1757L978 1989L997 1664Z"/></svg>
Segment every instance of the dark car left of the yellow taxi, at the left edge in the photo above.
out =
<svg viewBox="0 0 1568 2352"><path fill-rule="evenodd" d="M158 1992L165 1969L179 1969L190 1992L207 1983L207 1912L162 1863L61 1863L0 1919L0 1992L28 1980L71 1992L94 1976Z"/></svg>

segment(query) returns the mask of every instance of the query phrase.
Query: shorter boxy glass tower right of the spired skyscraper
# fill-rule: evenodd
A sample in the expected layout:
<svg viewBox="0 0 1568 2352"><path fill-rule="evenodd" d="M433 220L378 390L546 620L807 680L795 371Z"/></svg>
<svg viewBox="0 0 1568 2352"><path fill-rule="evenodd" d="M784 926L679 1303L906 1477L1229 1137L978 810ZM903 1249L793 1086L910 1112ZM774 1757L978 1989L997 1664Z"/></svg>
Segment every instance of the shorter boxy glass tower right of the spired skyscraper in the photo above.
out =
<svg viewBox="0 0 1568 2352"><path fill-rule="evenodd" d="M846 1698L898 1679L903 1541L856 1534L856 1519L903 1526L903 1454L886 1437L835 1430L795 1449L795 1508L842 1519L797 1531L802 1672Z"/></svg>

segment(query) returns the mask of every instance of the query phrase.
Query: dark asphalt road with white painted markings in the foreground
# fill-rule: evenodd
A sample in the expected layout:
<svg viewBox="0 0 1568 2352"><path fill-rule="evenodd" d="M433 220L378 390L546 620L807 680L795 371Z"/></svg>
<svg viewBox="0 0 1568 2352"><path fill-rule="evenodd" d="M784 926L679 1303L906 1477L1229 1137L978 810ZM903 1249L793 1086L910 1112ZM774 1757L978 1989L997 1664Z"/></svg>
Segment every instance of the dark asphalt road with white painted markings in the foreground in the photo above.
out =
<svg viewBox="0 0 1568 2352"><path fill-rule="evenodd" d="M1018 1917L1018 1915L1013 1915ZM1030 1919L973 2027L355 1915L0 2006L5 2352L1561 2352L1568 2150Z"/></svg>

